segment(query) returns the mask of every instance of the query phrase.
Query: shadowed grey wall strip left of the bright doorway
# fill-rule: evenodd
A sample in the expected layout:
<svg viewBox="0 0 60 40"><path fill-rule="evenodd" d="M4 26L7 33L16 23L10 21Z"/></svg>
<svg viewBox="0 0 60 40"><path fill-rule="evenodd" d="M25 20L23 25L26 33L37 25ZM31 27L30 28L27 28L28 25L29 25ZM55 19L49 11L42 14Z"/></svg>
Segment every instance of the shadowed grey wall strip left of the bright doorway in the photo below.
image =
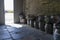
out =
<svg viewBox="0 0 60 40"><path fill-rule="evenodd" d="M0 0L0 25L5 24L4 18L4 0Z"/></svg>

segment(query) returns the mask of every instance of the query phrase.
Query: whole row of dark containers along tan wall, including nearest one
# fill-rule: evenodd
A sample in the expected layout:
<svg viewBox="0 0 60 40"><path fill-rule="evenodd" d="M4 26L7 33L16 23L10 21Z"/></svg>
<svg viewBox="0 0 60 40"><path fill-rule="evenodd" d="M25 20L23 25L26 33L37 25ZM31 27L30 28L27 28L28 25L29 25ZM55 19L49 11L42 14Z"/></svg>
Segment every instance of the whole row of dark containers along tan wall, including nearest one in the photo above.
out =
<svg viewBox="0 0 60 40"><path fill-rule="evenodd" d="M27 24L48 34L52 34L54 40L60 40L60 16L28 16Z"/></svg>

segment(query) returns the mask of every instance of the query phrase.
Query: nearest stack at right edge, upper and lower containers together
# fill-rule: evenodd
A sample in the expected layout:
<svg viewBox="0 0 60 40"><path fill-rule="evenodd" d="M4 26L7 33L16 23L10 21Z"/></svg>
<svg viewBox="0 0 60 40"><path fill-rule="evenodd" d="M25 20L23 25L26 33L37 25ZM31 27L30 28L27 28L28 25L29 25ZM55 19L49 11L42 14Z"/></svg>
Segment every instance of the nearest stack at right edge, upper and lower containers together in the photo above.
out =
<svg viewBox="0 0 60 40"><path fill-rule="evenodd" d="M54 40L60 40L60 16L55 16Z"/></svg>

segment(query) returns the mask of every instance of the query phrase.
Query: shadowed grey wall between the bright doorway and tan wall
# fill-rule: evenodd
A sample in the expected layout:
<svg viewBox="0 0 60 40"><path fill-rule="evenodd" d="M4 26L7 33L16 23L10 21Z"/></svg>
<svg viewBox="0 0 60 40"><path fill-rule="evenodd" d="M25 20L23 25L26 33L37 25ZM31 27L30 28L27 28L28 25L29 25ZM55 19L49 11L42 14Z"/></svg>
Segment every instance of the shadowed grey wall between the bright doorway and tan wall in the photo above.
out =
<svg viewBox="0 0 60 40"><path fill-rule="evenodd" d="M19 22L19 14L23 12L23 0L14 0L14 22Z"/></svg>

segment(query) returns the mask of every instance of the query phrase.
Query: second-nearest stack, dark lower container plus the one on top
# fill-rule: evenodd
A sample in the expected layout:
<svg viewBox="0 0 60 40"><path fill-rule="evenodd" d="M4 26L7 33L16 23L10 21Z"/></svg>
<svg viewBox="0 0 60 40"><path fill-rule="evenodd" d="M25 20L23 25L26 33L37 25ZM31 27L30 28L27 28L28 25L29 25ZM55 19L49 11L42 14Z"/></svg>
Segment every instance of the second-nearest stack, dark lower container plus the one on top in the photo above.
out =
<svg viewBox="0 0 60 40"><path fill-rule="evenodd" d="M45 26L45 32L49 34L53 34L53 19L51 16L46 17L46 26Z"/></svg>

